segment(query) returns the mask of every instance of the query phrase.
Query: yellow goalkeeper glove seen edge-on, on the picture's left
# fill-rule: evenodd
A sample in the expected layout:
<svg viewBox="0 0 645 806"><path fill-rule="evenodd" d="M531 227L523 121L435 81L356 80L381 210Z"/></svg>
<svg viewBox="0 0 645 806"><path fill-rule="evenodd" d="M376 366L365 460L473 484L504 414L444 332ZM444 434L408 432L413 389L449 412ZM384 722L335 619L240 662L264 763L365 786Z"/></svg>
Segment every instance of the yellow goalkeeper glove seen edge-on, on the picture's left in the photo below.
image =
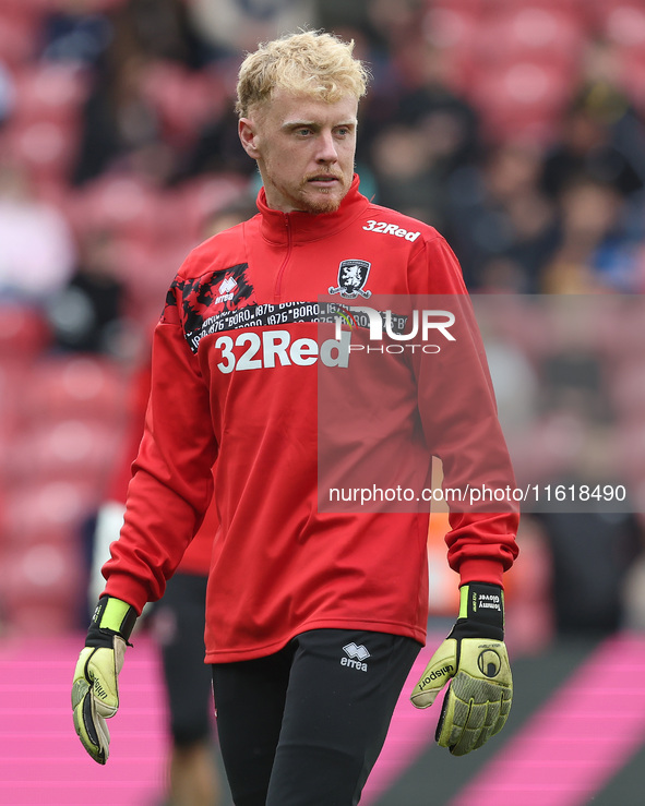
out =
<svg viewBox="0 0 645 806"><path fill-rule="evenodd" d="M106 719L119 708L117 678L123 665L128 639L136 621L130 604L101 597L92 617L85 648L81 650L72 686L74 727L83 747L99 765L109 755Z"/></svg>

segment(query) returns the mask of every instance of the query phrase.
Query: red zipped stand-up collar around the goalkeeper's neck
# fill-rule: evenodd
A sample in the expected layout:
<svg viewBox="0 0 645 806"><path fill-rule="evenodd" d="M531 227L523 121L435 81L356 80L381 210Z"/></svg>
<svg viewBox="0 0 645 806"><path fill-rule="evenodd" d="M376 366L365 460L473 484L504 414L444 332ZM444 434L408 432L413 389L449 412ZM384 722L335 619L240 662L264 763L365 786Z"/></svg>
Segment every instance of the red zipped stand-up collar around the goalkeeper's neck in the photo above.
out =
<svg viewBox="0 0 645 806"><path fill-rule="evenodd" d="M266 205L264 188L258 194L258 209L262 214L261 232L271 243L303 243L326 238L345 229L365 212L369 201L358 190L359 178L354 175L351 187L334 213L283 213Z"/></svg>

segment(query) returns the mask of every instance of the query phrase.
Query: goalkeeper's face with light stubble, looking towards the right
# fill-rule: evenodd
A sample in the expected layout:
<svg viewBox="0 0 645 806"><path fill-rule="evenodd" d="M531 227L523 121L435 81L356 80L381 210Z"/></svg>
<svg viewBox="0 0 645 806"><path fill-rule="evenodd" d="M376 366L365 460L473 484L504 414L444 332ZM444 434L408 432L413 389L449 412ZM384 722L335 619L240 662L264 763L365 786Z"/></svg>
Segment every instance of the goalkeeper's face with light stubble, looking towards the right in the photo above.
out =
<svg viewBox="0 0 645 806"><path fill-rule="evenodd" d="M247 154L258 160L266 202L289 213L332 213L354 176L358 100L335 104L276 89L239 124Z"/></svg>

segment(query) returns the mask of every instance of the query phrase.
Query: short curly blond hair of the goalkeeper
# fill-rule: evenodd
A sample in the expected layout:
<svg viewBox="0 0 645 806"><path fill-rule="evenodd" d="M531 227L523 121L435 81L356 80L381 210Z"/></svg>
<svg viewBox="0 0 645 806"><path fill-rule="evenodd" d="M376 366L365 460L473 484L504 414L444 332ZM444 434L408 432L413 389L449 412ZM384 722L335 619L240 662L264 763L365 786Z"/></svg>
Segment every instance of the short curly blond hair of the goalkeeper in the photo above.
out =
<svg viewBox="0 0 645 806"><path fill-rule="evenodd" d="M263 43L243 60L237 85L236 111L247 117L280 88L330 104L344 95L361 98L370 79L365 64L351 55L354 40L308 31Z"/></svg>

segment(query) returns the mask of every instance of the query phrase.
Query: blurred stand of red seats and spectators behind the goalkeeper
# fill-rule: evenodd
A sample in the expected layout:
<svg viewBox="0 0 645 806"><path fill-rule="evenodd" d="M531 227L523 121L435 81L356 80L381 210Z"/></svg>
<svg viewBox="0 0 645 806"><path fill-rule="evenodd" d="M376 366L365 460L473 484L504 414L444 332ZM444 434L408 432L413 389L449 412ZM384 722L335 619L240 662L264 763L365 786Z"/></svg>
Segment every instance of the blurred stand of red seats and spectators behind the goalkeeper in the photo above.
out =
<svg viewBox="0 0 645 806"><path fill-rule="evenodd" d="M518 476L629 490L623 513L526 518L510 639L513 618L534 646L645 626L643 0L4 0L1 628L86 623L81 536L151 327L191 246L258 191L240 56L300 26L370 65L361 190L445 234L493 313Z"/></svg>

